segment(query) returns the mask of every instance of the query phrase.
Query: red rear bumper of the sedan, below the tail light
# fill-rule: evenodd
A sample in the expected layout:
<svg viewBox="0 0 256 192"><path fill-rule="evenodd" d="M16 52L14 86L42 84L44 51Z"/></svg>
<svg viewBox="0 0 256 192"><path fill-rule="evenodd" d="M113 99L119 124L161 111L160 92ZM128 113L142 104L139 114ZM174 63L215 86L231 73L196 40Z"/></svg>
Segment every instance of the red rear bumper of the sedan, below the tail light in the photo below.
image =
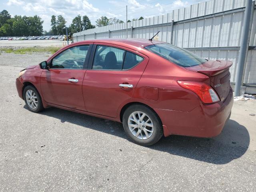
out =
<svg viewBox="0 0 256 192"><path fill-rule="evenodd" d="M164 128L164 136L171 134L214 137L220 134L233 106L233 92L214 104L201 104L190 112L155 109Z"/></svg>

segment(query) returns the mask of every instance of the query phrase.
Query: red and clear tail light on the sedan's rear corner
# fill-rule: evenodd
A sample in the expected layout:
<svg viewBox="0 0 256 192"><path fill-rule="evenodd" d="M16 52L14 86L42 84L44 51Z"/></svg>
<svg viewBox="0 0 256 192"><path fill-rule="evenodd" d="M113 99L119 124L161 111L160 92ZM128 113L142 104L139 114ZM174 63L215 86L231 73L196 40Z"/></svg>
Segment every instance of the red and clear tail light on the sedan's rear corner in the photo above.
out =
<svg viewBox="0 0 256 192"><path fill-rule="evenodd" d="M220 98L218 97L217 93L213 90L213 88L205 83L180 80L177 82L181 87L197 94L203 103L207 104L220 101Z"/></svg>

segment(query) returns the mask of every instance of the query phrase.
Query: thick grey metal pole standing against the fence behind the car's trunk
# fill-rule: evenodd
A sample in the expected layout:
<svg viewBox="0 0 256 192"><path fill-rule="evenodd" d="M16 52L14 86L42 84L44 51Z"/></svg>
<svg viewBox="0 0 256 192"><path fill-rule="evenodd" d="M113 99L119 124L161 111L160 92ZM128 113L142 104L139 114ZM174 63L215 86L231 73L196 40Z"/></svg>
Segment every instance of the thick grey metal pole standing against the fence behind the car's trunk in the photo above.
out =
<svg viewBox="0 0 256 192"><path fill-rule="evenodd" d="M254 4L253 4L254 6ZM248 34L250 28L250 19L251 19L251 11L252 11L252 0L246 0L245 3L245 11L244 11L244 24L242 28L241 41L240 41L240 52L238 58L238 66L236 72L236 85L234 96L240 96L240 90L242 82L242 77L244 73L244 65L246 61L246 52L247 52L247 42L248 42Z"/></svg>

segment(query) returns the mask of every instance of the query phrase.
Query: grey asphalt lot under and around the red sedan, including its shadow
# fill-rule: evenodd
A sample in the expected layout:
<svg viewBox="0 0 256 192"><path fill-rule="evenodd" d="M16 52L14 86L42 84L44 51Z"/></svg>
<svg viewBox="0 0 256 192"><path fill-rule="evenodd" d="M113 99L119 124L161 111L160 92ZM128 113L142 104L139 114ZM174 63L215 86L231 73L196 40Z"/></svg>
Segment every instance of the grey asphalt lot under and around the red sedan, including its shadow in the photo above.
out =
<svg viewBox="0 0 256 192"><path fill-rule="evenodd" d="M15 79L48 56L0 54L0 191L255 191L255 100L234 101L215 138L139 146L117 122L58 108L30 112Z"/></svg>

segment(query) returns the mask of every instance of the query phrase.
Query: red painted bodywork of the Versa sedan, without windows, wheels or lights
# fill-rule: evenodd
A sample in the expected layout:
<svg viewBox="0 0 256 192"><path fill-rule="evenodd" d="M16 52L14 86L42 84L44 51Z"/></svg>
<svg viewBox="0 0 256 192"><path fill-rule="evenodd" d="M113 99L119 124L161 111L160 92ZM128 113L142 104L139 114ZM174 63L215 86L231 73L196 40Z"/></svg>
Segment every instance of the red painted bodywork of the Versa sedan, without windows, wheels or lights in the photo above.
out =
<svg viewBox="0 0 256 192"><path fill-rule="evenodd" d="M134 52L144 60L130 70L42 70L39 66L27 68L16 80L22 98L24 84L33 84L40 93L44 107L55 106L121 122L122 108L132 102L143 103L160 117L164 136L179 134L198 137L218 135L228 118L233 93L229 84L228 68L231 62L208 61L205 64L183 68L144 49L144 46L162 43L138 39L91 40L73 43L51 56L83 44L114 46ZM78 83L68 82L76 78ZM198 95L178 85L177 81L194 81L212 87L219 102L203 104ZM122 88L119 84L132 84ZM221 84L221 86L216 86Z"/></svg>

